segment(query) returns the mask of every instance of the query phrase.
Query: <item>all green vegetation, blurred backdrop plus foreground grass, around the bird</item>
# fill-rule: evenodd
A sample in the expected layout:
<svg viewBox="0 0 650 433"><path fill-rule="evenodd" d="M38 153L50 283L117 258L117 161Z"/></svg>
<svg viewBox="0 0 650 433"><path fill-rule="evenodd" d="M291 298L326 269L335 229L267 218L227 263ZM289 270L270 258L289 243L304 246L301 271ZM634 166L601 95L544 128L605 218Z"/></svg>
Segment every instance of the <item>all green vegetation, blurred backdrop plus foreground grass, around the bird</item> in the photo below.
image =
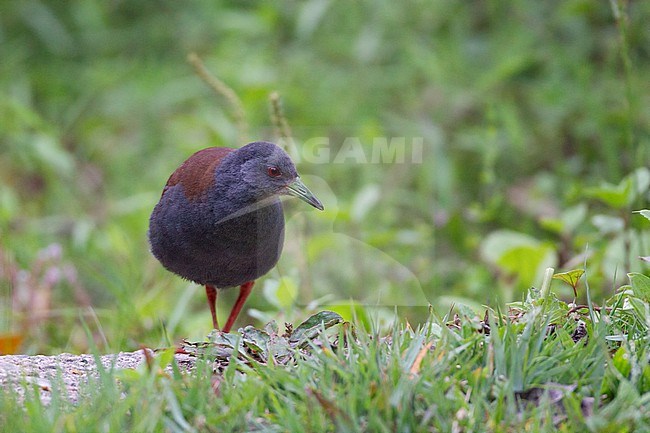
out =
<svg viewBox="0 0 650 433"><path fill-rule="evenodd" d="M356 330L290 366L230 362L216 392L206 362L107 371L76 406L3 395L7 431L648 429L650 3L1 10L3 345L203 340L203 294L148 253L148 216L192 152L257 139L288 145L326 211L286 202L241 322L327 309ZM551 290L549 267L586 274Z"/></svg>

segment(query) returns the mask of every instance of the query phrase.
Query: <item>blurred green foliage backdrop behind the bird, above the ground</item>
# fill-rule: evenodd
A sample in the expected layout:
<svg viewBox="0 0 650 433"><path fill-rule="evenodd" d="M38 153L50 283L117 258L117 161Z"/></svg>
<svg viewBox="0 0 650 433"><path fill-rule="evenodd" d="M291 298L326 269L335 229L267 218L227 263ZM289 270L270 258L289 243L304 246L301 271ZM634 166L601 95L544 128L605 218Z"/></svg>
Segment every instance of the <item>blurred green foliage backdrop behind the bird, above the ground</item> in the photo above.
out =
<svg viewBox="0 0 650 433"><path fill-rule="evenodd" d="M286 202L284 256L240 324L393 305L417 323L585 261L598 301L648 272L649 19L644 1L3 0L0 332L51 353L209 331L202 289L146 240L186 157L244 144L189 52L241 98L249 141L277 140L278 91L297 148L330 152L298 158L326 211ZM404 163L335 159L400 139Z"/></svg>

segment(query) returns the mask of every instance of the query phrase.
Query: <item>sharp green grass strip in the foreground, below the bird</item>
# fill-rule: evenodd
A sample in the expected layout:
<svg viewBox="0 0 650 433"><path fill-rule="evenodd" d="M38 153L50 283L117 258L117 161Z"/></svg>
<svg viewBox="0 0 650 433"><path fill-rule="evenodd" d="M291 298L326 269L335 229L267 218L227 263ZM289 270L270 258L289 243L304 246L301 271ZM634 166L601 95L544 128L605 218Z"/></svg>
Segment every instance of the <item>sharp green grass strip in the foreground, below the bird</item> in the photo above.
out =
<svg viewBox="0 0 650 433"><path fill-rule="evenodd" d="M645 431L648 287L632 276L595 322L531 290L508 314L461 306L386 335L334 327L285 365L233 357L213 373L199 357L181 373L162 352L150 368L100 371L78 404L4 391L2 431Z"/></svg>

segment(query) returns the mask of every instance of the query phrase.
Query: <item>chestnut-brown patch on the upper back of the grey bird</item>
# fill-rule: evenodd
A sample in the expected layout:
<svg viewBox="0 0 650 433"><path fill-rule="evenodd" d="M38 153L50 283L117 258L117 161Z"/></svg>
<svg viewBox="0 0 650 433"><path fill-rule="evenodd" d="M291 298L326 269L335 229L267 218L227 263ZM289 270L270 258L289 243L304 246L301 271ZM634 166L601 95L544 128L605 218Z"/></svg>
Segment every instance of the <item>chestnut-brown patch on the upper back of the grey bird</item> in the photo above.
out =
<svg viewBox="0 0 650 433"><path fill-rule="evenodd" d="M223 158L235 149L229 147L208 147L199 150L183 162L169 176L162 195L175 185L182 185L189 200L200 197L214 182L214 171Z"/></svg>

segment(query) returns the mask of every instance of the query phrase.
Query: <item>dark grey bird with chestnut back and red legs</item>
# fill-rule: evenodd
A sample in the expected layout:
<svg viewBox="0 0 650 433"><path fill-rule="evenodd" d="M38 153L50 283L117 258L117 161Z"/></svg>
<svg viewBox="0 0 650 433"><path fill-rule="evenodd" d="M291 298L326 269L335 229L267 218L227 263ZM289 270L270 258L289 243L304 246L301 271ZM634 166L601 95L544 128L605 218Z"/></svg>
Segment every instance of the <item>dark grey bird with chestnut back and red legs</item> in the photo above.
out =
<svg viewBox="0 0 650 433"><path fill-rule="evenodd" d="M167 270L205 286L214 329L218 291L239 286L220 329L230 332L255 280L278 262L284 195L324 210L289 155L267 141L199 150L167 180L149 218L151 252Z"/></svg>

